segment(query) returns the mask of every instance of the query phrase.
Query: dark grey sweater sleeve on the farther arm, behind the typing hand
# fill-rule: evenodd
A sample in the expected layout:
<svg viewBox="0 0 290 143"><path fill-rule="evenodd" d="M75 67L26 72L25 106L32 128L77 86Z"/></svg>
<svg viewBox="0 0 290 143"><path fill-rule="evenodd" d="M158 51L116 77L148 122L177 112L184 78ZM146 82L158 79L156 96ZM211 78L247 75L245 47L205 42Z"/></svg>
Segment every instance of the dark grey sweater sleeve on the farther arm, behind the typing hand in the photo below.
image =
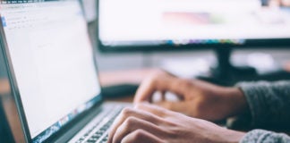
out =
<svg viewBox="0 0 290 143"><path fill-rule="evenodd" d="M290 80L242 82L255 127L290 127Z"/></svg>

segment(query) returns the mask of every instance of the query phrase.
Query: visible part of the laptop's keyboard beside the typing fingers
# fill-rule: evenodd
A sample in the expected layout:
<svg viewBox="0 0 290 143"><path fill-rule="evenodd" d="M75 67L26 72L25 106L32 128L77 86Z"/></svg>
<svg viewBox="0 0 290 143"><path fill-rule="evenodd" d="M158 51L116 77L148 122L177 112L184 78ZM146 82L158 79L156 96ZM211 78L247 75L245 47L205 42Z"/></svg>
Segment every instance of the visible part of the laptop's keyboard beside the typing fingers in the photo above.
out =
<svg viewBox="0 0 290 143"><path fill-rule="evenodd" d="M121 112L123 106L115 106L105 112L103 120L97 122L90 130L88 130L76 143L106 143L108 129L111 127L116 116Z"/></svg>

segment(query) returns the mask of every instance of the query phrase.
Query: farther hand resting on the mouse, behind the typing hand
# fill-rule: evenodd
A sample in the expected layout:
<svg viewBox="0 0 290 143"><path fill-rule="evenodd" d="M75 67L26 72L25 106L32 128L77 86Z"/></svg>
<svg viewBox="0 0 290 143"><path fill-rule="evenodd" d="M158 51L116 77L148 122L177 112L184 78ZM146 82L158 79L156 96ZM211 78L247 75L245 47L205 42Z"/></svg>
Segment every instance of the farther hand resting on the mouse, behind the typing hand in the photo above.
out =
<svg viewBox="0 0 290 143"><path fill-rule="evenodd" d="M239 88L225 88L201 80L179 79L165 71L157 71L143 80L137 90L134 103L152 100L159 91L175 93L180 101L163 100L156 103L175 112L209 121L218 121L247 109L246 99Z"/></svg>

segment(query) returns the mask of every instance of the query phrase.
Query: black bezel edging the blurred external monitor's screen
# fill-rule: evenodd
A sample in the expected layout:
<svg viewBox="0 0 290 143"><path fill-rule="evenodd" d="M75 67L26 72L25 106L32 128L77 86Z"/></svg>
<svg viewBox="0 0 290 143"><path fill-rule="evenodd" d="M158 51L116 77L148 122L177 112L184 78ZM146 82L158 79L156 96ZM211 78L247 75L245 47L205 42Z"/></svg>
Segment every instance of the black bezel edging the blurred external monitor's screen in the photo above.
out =
<svg viewBox="0 0 290 143"><path fill-rule="evenodd" d="M99 38L99 1L97 1L97 46L101 53L140 53L140 52L174 52L191 50L209 50L218 48L290 48L290 38L252 38L244 39L243 44L188 44L188 45L148 45L148 46L105 46ZM290 8L289 8L290 9Z"/></svg>

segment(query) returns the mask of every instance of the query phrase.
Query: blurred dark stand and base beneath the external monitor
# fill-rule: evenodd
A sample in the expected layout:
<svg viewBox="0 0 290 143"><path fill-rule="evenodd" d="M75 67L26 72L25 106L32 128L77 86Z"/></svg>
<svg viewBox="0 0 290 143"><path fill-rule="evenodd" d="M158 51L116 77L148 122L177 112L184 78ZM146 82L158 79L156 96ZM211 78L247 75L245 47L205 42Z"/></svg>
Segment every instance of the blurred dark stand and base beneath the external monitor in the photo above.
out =
<svg viewBox="0 0 290 143"><path fill-rule="evenodd" d="M233 86L239 81L290 79L290 73L287 71L275 71L260 75L255 68L250 66L235 66L230 63L231 52L231 47L216 48L217 66L211 68L208 77L200 76L198 79L207 80L223 86Z"/></svg>

